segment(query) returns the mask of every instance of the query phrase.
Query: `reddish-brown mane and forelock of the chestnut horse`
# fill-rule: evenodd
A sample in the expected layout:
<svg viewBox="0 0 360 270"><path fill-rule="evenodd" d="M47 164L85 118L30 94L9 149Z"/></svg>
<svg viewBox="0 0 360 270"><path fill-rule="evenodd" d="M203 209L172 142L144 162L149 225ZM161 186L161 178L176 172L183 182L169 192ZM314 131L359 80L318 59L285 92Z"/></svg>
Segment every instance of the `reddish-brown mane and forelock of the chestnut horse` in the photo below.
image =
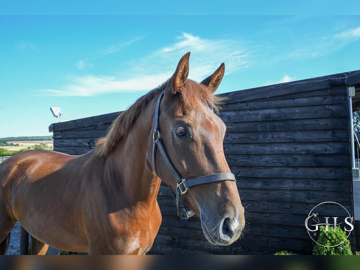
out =
<svg viewBox="0 0 360 270"><path fill-rule="evenodd" d="M137 99L126 111L123 111L109 127L108 134L99 138L95 143L95 153L98 156L108 156L126 136L139 114L157 94L165 90L169 80L149 91L149 93ZM186 80L180 93L174 95L174 99L181 98L186 112L200 108L201 104L212 106L215 112L219 112L223 100L220 95L213 95L206 86L193 80Z"/></svg>

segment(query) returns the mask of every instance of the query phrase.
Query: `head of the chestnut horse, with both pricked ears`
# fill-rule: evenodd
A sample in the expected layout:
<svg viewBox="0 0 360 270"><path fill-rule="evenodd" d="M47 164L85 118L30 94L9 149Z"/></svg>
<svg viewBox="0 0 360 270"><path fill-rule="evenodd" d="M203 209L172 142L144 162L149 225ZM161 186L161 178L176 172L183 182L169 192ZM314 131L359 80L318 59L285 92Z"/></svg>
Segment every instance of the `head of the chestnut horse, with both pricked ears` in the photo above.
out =
<svg viewBox="0 0 360 270"><path fill-rule="evenodd" d="M187 78L189 55L181 58L168 80L159 115L161 139L168 157L185 179L230 172L223 149L226 126L213 112L221 101L213 93L224 76L225 65L222 63L198 83ZM156 156L156 166L159 177L175 192L176 182L160 155ZM200 218L210 243L229 245L239 238L245 225L244 208L234 181L225 179L193 186L181 198Z"/></svg>

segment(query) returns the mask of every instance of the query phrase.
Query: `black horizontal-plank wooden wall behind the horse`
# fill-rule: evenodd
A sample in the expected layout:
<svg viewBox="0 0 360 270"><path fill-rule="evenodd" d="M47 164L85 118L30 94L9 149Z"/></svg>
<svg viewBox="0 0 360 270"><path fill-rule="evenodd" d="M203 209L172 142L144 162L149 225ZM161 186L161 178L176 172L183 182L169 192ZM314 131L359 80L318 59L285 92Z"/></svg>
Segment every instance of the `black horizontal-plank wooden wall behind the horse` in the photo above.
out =
<svg viewBox="0 0 360 270"><path fill-rule="evenodd" d="M226 93L224 152L247 211L248 233L226 247L203 240L200 222L181 221L166 185L153 254L310 253L304 227L310 210L333 201L353 212L347 85L360 72ZM118 113L56 123L54 150L83 154ZM350 240L354 243L354 234Z"/></svg>

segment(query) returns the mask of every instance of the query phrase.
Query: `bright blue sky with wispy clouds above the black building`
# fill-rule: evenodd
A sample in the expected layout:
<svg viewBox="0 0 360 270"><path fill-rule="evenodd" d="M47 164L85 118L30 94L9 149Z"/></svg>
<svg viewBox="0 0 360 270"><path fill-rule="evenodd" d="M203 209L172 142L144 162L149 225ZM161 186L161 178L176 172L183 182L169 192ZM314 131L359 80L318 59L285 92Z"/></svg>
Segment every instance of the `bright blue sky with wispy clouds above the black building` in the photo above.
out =
<svg viewBox="0 0 360 270"><path fill-rule="evenodd" d="M0 138L126 109L191 51L224 93L360 69L360 16L0 16Z"/></svg>

